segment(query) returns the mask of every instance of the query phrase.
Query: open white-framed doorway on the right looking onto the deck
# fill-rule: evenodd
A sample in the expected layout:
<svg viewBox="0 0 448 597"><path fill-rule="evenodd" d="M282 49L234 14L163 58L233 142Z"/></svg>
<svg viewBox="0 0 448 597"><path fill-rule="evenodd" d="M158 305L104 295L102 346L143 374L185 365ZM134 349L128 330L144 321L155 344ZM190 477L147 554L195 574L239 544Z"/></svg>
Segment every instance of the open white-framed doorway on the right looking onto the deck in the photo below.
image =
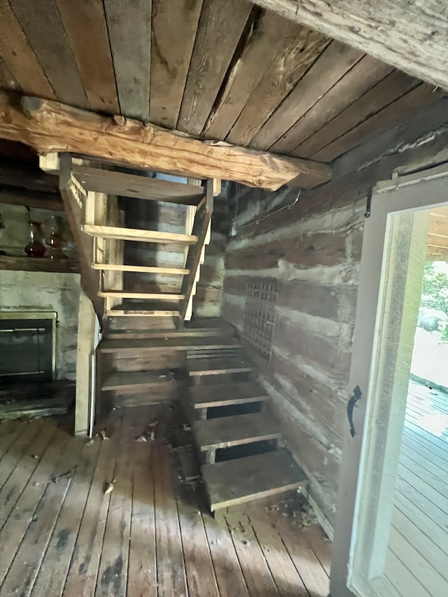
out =
<svg viewBox="0 0 448 597"><path fill-rule="evenodd" d="M353 501L351 511L340 506L332 597L448 594L445 186L423 179L377 195L376 221L366 223L351 374L358 407L348 409L344 449Z"/></svg>

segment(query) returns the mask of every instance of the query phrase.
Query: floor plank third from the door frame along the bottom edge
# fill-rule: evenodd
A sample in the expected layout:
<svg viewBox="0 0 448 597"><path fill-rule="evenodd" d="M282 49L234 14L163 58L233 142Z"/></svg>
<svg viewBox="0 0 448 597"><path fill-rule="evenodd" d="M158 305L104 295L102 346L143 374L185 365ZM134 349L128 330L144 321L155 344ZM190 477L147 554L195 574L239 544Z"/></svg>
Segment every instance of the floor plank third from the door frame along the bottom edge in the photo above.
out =
<svg viewBox="0 0 448 597"><path fill-rule="evenodd" d="M267 566L260 545L253 535L246 517L242 514L232 513L227 514L225 519L228 522L249 595L251 597L279 596L269 566Z"/></svg>

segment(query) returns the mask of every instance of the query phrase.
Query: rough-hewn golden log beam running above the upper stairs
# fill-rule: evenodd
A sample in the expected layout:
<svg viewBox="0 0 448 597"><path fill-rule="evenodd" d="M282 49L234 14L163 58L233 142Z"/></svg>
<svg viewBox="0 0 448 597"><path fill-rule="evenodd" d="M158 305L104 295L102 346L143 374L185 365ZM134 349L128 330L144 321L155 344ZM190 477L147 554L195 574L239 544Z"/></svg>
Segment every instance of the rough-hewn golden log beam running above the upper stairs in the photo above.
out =
<svg viewBox="0 0 448 597"><path fill-rule="evenodd" d="M0 92L0 138L21 141L38 153L90 155L134 167L222 178L276 190L296 180L312 188L331 178L326 164L208 143L136 120L94 114L57 101Z"/></svg>

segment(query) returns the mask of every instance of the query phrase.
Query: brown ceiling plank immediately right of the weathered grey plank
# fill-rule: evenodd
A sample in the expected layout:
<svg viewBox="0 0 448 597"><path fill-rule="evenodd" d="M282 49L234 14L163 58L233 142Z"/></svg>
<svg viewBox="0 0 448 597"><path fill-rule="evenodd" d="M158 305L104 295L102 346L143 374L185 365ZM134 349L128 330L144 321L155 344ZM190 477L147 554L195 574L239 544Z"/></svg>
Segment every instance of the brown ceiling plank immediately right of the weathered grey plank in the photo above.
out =
<svg viewBox="0 0 448 597"><path fill-rule="evenodd" d="M153 0L149 119L155 125L176 128L201 7L202 0Z"/></svg>

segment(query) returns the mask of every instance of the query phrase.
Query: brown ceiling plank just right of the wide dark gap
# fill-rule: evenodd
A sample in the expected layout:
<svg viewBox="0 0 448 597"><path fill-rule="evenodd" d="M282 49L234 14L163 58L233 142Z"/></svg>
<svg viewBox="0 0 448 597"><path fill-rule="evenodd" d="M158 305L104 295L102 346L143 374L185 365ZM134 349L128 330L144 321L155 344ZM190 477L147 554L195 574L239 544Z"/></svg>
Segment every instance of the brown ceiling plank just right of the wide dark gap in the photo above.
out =
<svg viewBox="0 0 448 597"><path fill-rule="evenodd" d="M301 29L300 25L271 11L263 13L230 73L220 104L209 116L203 136L225 139L247 100L269 71L274 57L272 48L279 48L284 38L299 36Z"/></svg>

